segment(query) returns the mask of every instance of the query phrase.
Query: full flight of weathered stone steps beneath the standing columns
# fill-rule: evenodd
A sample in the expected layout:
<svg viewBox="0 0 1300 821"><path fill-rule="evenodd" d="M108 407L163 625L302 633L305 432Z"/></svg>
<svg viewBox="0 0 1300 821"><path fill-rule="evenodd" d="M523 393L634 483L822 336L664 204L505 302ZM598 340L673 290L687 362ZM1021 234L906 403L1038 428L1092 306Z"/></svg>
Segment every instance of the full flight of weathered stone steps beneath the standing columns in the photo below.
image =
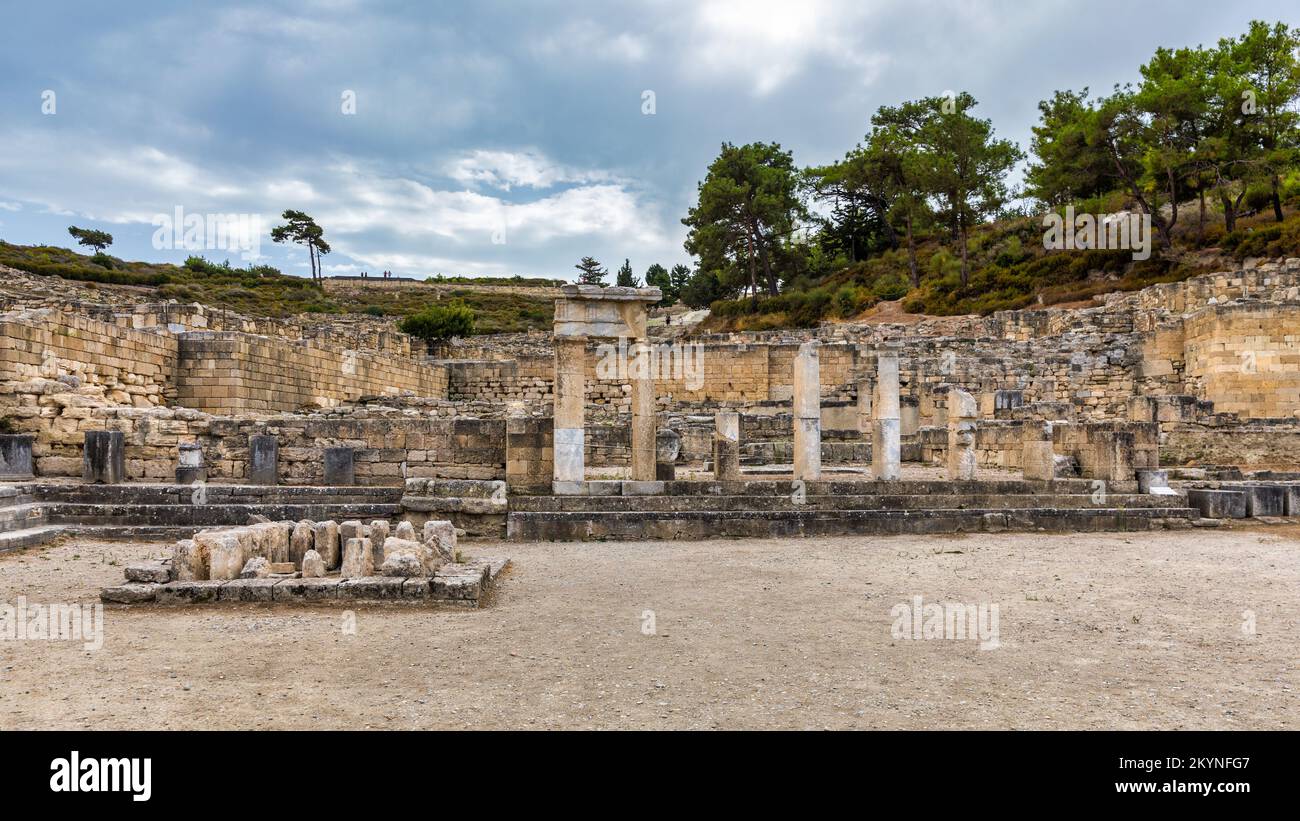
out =
<svg viewBox="0 0 1300 821"><path fill-rule="evenodd" d="M1087 533L1186 527L1197 520L1183 496L1098 496L1084 479L823 481L805 482L802 488L789 481L653 485L593 482L592 495L512 496L507 535L515 540L640 540Z"/></svg>

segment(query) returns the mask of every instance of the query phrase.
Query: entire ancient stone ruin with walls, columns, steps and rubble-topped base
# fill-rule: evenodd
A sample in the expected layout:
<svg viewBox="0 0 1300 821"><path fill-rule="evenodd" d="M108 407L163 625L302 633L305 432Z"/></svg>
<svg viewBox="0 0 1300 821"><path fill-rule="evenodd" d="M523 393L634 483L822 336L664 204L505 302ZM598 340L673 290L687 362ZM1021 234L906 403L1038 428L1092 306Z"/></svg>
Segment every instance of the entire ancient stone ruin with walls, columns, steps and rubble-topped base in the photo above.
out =
<svg viewBox="0 0 1300 821"><path fill-rule="evenodd" d="M654 321L655 288L568 286L551 336L436 349L380 321L29 284L0 316L0 548L179 539L113 601L477 601L500 568L454 561L430 527L694 539L1300 516L1296 259L1087 308L802 334L698 334ZM478 594L445 592L468 577Z"/></svg>

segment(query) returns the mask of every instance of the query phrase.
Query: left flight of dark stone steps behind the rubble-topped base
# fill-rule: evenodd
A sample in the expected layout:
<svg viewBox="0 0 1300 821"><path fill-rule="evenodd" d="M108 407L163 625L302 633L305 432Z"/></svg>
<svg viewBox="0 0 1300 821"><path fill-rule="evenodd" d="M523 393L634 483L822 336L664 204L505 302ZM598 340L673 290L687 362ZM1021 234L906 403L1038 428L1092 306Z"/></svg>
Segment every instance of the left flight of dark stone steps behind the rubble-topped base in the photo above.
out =
<svg viewBox="0 0 1300 821"><path fill-rule="evenodd" d="M187 537L202 527L242 525L251 516L391 518L400 513L400 487L8 485L0 486L0 549L39 544L60 533Z"/></svg>

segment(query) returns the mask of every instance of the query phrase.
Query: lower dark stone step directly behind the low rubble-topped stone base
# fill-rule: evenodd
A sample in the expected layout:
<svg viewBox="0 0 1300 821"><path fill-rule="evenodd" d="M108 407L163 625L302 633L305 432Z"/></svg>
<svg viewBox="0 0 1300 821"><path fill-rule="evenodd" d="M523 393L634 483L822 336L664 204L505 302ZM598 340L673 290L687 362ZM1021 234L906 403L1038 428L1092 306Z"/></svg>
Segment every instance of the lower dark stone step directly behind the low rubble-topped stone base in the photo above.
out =
<svg viewBox="0 0 1300 821"><path fill-rule="evenodd" d="M251 516L272 521L370 521L393 518L400 504L79 504L47 505L51 521L62 525L99 525L136 529L216 527L243 525Z"/></svg>

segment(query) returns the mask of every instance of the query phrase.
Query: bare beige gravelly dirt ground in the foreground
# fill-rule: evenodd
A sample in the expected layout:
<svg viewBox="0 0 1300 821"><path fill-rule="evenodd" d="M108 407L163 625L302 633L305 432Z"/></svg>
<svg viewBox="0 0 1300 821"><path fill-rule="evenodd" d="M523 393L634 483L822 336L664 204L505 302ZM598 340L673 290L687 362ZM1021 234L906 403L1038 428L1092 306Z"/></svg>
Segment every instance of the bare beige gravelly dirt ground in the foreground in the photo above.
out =
<svg viewBox="0 0 1300 821"><path fill-rule="evenodd" d="M3 555L0 601L91 603L165 547ZM0 640L0 729L1300 727L1300 526L464 549L515 561L481 611L105 607L98 651ZM894 638L916 595L997 604L1000 647Z"/></svg>

